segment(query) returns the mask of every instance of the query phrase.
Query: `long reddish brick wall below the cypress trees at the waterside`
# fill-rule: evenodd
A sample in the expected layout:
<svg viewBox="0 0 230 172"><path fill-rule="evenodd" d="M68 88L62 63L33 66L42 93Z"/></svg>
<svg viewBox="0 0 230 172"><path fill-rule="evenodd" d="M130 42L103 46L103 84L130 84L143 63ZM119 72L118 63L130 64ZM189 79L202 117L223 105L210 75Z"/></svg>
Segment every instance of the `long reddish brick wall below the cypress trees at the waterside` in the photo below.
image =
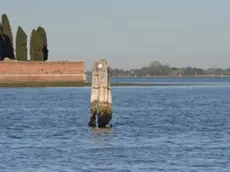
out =
<svg viewBox="0 0 230 172"><path fill-rule="evenodd" d="M1 61L0 82L85 81L84 62Z"/></svg>

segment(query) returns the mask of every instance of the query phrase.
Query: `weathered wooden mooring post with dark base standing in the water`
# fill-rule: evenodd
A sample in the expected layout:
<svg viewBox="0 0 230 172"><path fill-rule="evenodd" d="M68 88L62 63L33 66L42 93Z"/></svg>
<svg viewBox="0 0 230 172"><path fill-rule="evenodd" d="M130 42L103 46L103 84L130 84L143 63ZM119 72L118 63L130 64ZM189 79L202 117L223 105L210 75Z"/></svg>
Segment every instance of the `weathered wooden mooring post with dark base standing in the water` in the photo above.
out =
<svg viewBox="0 0 230 172"><path fill-rule="evenodd" d="M110 71L106 60L95 62L92 70L90 98L90 127L106 127L112 119L112 93Z"/></svg>

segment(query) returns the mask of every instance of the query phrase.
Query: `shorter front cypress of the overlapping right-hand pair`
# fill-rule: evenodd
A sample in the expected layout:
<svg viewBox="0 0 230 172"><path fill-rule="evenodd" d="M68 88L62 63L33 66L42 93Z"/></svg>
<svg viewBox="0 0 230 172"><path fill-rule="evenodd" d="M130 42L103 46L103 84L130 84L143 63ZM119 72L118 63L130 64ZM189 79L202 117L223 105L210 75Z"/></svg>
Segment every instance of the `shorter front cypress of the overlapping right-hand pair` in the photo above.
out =
<svg viewBox="0 0 230 172"><path fill-rule="evenodd" d="M33 29L30 37L30 60L44 61L43 58L43 40L40 34Z"/></svg>

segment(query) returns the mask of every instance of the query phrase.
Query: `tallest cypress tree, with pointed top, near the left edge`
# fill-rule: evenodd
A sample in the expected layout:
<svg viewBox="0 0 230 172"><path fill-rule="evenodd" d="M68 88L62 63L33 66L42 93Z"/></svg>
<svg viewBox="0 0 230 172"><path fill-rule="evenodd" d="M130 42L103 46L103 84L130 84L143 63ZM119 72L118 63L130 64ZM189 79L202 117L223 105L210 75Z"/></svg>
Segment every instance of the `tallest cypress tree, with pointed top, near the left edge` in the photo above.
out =
<svg viewBox="0 0 230 172"><path fill-rule="evenodd" d="M12 34L12 30L11 30L11 26L10 26L10 22L9 22L9 19L7 17L6 14L2 14L2 28L3 28L3 34L8 37L7 39L10 40L11 42L11 47L8 47L8 49L12 49L12 53L9 55L12 56L10 58L13 58L14 59L14 44L13 44L13 34ZM10 44L9 44L10 46Z"/></svg>

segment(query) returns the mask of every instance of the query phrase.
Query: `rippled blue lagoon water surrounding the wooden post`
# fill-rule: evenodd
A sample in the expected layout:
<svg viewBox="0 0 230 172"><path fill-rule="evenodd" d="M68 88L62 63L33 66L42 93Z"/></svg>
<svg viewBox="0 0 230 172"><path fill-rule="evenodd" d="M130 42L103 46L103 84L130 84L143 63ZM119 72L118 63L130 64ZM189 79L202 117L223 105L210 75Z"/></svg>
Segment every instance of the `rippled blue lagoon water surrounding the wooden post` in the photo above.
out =
<svg viewBox="0 0 230 172"><path fill-rule="evenodd" d="M110 130L87 127L89 87L1 88L0 172L228 172L230 81L200 82L114 87Z"/></svg>

